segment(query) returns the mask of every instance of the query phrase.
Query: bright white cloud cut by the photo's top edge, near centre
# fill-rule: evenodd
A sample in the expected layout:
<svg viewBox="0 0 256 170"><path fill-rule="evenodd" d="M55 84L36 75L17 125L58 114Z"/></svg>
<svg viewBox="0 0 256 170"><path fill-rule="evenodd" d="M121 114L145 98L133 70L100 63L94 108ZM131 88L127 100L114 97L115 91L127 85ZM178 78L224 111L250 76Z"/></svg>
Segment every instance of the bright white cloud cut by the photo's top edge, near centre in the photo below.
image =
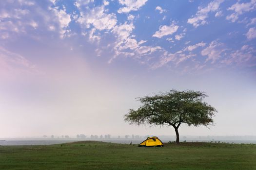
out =
<svg viewBox="0 0 256 170"><path fill-rule="evenodd" d="M130 11L138 11L140 7L145 5L148 0L118 0L124 7L118 9L118 13L129 13Z"/></svg>

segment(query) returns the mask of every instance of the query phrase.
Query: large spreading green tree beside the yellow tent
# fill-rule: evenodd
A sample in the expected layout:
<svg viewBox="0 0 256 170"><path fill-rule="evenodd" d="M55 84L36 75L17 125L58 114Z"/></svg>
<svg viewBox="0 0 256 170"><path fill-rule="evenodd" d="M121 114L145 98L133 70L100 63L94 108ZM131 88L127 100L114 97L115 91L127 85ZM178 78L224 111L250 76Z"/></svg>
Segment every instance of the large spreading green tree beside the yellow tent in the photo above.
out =
<svg viewBox="0 0 256 170"><path fill-rule="evenodd" d="M182 123L188 126L212 125L217 110L204 102L204 92L186 90L160 92L154 96L138 98L142 104L137 110L129 109L124 120L130 124L172 126L179 144L178 128Z"/></svg>

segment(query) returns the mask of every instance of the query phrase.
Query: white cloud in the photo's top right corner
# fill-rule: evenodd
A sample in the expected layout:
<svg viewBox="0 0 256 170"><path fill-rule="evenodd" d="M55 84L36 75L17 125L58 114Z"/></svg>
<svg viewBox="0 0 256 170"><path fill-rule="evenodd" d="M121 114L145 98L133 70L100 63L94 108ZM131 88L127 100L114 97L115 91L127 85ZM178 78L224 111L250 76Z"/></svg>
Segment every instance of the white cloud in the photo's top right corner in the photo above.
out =
<svg viewBox="0 0 256 170"><path fill-rule="evenodd" d="M238 3L236 2L228 10L234 11L231 15L227 16L227 20L231 20L231 22L236 22L238 17L245 12L253 11L256 9L256 0L251 0L247 3Z"/></svg>

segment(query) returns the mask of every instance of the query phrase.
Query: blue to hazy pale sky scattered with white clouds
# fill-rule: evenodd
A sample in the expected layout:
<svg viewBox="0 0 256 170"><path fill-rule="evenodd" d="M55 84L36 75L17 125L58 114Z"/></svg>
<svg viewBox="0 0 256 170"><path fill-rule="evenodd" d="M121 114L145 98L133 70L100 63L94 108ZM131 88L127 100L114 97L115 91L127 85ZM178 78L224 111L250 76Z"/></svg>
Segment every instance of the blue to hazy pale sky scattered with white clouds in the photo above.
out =
<svg viewBox="0 0 256 170"><path fill-rule="evenodd" d="M210 129L256 135L256 0L1 0L0 137L175 135L137 97L204 91Z"/></svg>

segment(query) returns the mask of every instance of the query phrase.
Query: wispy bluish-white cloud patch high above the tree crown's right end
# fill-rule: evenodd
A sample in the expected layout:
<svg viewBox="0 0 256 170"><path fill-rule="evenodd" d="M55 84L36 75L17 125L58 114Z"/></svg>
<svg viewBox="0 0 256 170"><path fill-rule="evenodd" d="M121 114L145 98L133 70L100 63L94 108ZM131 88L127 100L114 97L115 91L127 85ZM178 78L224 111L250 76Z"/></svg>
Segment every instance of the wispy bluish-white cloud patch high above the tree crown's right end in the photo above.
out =
<svg viewBox="0 0 256 170"><path fill-rule="evenodd" d="M221 53L227 50L223 46L224 44L218 43L216 40L212 41L207 48L201 51L201 54L208 56L206 62L212 60L212 63L215 63L221 57Z"/></svg>

